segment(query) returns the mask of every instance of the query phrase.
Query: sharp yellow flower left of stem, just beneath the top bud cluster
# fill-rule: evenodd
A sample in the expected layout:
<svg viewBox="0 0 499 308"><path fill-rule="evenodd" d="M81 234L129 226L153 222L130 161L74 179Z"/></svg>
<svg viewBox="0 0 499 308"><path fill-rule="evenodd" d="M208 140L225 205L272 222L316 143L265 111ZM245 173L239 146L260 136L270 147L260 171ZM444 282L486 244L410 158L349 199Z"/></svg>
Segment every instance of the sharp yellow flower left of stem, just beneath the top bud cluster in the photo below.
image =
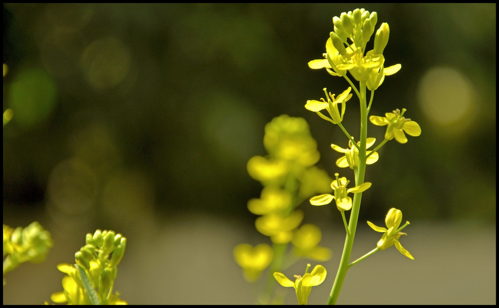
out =
<svg viewBox="0 0 499 308"><path fill-rule="evenodd" d="M350 94L352 88L348 87L348 89L343 91L343 93L338 95L338 97L336 98L334 97L334 94L331 93L329 93L328 96L326 88L324 88L323 90L324 93L326 94L327 102L323 98L321 98L321 101L309 100L305 104L305 108L307 110L317 113L317 115L324 120L327 120L333 124L338 124L341 121L343 121L343 115L345 114L345 108L346 108L345 103L352 97L352 94ZM341 104L341 113L338 110L339 104ZM321 113L323 109L327 110L330 118L324 116Z"/></svg>

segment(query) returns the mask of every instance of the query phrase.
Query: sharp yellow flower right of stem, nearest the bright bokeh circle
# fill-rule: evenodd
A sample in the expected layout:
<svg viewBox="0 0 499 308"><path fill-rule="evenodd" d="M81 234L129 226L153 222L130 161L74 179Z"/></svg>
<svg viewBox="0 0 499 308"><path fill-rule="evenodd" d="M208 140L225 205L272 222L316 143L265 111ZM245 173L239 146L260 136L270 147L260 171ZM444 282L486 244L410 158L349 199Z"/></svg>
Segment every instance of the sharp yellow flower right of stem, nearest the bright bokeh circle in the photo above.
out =
<svg viewBox="0 0 499 308"><path fill-rule="evenodd" d="M402 113L399 109L392 111L391 113L386 113L385 117L370 116L369 121L377 126L388 125L386 128L385 139L395 140L401 144L407 142L407 137L404 132L409 136L417 137L421 135L421 127L418 123L411 121L411 119L406 119L403 117L406 109L402 109Z"/></svg>

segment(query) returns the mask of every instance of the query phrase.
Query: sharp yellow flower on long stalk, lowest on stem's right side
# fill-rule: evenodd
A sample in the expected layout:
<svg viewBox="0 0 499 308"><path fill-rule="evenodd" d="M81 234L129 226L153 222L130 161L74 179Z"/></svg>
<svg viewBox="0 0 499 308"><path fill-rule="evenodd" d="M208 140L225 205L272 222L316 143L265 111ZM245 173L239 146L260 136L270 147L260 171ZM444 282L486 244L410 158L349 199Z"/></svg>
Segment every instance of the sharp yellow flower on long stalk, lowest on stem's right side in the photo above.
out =
<svg viewBox="0 0 499 308"><path fill-rule="evenodd" d="M406 223L399 228L401 222L402 222L402 211L396 208L391 208L388 211L388 214L386 215L385 218L385 223L387 228L378 227L370 221L368 221L367 224L374 231L384 232L383 236L381 237L381 239L378 241L377 244L377 247L380 250L385 250L395 245L395 247L397 248L398 251L400 251L401 254L403 254L409 259L414 260L414 257L407 250L405 250L404 247L402 247L402 245L399 242L400 236L407 235L406 233L402 233L400 231L409 225L409 222L406 221Z"/></svg>

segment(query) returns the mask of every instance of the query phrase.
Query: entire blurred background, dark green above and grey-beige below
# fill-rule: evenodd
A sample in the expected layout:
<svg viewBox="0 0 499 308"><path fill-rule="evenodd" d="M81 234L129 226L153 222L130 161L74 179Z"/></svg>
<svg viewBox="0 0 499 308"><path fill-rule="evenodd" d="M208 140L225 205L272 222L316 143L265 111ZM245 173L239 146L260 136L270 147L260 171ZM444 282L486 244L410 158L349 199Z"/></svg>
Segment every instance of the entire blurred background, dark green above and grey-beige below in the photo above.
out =
<svg viewBox="0 0 499 308"><path fill-rule="evenodd" d="M253 303L232 258L235 245L268 240L246 207L261 191L246 163L265 154L264 125L287 114L308 121L318 165L339 171L330 144L346 147L342 132L303 106L348 84L307 62L325 52L332 17L357 7L389 23L386 66L402 64L370 114L406 108L422 127L379 151L360 221L381 225L401 209L416 261L376 254L349 272L340 301L495 304L495 3L4 3L3 110L14 118L3 129L3 223L38 220L55 247L43 265L7 275L3 303L40 304L60 291L55 265L74 260L97 228L129 239L115 290L130 304ZM355 101L344 120L354 136ZM368 137L383 134L369 127ZM325 303L344 229L336 208L301 209L335 252L309 300ZM354 256L373 248L372 233L356 239ZM386 284L396 295L382 294Z"/></svg>

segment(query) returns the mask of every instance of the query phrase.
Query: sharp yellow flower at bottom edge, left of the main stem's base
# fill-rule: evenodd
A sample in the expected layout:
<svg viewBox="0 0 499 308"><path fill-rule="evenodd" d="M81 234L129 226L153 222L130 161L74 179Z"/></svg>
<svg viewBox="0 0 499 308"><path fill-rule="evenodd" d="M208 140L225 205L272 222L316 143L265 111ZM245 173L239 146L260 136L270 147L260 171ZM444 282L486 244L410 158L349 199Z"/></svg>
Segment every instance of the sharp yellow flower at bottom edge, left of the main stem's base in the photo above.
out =
<svg viewBox="0 0 499 308"><path fill-rule="evenodd" d="M318 286L326 279L326 269L322 265L317 265L312 270L312 273L307 273L310 264L307 264L305 275L303 277L295 275L293 283L284 274L275 272L274 278L283 287L293 287L296 290L296 297L299 305L307 305L308 296L312 291L312 287Z"/></svg>

